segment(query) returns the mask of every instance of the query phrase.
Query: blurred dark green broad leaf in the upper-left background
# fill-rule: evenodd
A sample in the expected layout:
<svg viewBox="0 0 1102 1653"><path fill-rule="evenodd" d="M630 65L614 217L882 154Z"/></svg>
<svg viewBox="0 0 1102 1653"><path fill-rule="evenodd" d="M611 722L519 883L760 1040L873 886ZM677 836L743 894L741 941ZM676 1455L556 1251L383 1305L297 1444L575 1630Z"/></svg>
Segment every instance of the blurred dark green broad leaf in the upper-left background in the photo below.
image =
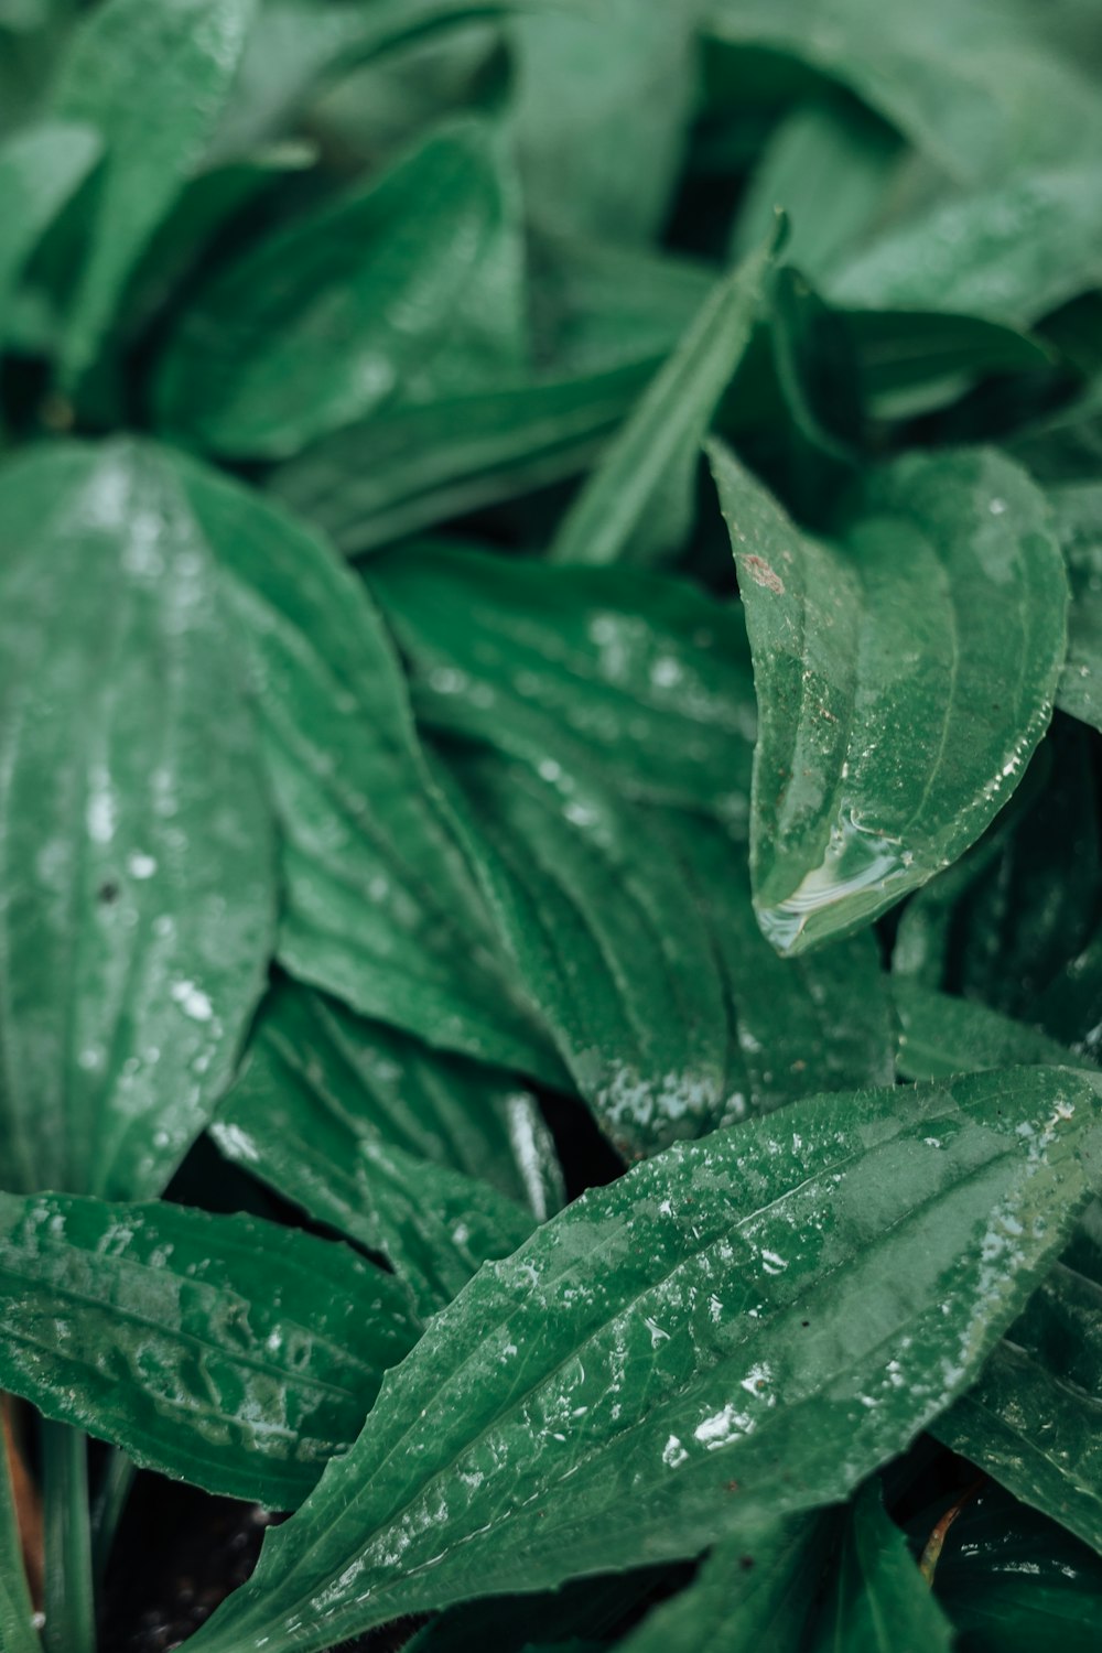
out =
<svg viewBox="0 0 1102 1653"><path fill-rule="evenodd" d="M367 188L261 240L197 296L157 375L160 423L233 458L289 458L426 365L494 250L497 137L453 124Z"/></svg>

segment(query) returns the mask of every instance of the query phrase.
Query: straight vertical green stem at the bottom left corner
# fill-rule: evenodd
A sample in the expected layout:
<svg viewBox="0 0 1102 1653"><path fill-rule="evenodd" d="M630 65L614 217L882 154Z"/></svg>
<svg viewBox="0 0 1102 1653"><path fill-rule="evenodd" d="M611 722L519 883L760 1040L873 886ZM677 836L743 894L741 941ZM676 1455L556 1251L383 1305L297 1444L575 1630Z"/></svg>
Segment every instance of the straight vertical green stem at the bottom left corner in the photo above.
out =
<svg viewBox="0 0 1102 1653"><path fill-rule="evenodd" d="M43 1422L46 1653L96 1653L88 1438Z"/></svg>

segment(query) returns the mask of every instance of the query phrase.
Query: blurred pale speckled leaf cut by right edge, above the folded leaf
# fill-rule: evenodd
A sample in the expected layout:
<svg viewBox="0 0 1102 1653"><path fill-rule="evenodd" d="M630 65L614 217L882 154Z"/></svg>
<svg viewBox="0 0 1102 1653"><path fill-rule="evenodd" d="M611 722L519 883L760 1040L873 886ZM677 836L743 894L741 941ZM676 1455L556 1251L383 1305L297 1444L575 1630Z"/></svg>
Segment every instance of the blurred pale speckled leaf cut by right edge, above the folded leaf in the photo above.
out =
<svg viewBox="0 0 1102 1653"><path fill-rule="evenodd" d="M1092 167L1036 172L935 202L828 283L838 304L933 309L1023 327L1102 279Z"/></svg>

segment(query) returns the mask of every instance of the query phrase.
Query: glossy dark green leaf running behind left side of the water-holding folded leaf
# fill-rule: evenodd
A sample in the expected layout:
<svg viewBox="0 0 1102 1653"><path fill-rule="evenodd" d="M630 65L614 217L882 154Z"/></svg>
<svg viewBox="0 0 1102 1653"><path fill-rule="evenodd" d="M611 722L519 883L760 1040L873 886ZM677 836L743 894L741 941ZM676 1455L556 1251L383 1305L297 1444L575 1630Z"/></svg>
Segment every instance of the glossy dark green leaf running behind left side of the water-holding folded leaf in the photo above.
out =
<svg viewBox="0 0 1102 1653"><path fill-rule="evenodd" d="M377 557L367 582L423 726L745 822L757 712L737 607L667 575L433 542Z"/></svg>

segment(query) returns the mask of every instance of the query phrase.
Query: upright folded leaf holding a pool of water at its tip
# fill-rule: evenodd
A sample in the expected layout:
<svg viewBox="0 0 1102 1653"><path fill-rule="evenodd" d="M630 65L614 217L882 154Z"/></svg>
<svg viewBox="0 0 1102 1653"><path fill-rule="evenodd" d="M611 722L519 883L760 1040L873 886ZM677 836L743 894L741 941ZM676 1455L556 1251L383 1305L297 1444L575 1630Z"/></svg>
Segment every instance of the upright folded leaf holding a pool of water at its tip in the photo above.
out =
<svg viewBox="0 0 1102 1653"><path fill-rule="evenodd" d="M781 952L867 924L980 836L1052 712L1067 582L1009 460L897 460L836 542L720 443L755 663L750 866Z"/></svg>

